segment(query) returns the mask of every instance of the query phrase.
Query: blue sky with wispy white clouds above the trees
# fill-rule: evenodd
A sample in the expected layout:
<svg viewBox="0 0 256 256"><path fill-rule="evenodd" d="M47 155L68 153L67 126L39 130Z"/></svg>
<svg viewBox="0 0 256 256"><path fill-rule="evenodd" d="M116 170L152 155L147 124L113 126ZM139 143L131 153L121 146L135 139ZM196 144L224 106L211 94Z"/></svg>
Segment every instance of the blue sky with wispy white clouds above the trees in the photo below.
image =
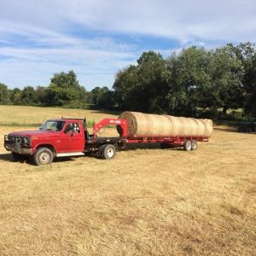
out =
<svg viewBox="0 0 256 256"><path fill-rule="evenodd" d="M255 0L0 0L0 82L47 86L73 70L112 87L143 51L256 43Z"/></svg>

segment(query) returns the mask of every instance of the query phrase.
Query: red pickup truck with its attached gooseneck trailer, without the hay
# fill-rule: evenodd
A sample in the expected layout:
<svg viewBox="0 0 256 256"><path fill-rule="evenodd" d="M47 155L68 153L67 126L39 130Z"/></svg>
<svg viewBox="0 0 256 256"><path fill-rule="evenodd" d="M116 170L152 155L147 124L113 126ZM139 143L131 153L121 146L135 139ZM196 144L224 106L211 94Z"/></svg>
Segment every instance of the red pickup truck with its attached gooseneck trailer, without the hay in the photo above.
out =
<svg viewBox="0 0 256 256"><path fill-rule="evenodd" d="M97 137L106 125L118 125L119 137ZM163 146L197 148L196 142L207 142L201 136L132 136L127 134L125 119L102 119L89 134L86 119L49 119L38 131L18 131L4 136L4 147L15 160L32 157L37 166L50 164L55 157L96 154L101 159L113 159L118 148L126 143L161 143Z"/></svg>

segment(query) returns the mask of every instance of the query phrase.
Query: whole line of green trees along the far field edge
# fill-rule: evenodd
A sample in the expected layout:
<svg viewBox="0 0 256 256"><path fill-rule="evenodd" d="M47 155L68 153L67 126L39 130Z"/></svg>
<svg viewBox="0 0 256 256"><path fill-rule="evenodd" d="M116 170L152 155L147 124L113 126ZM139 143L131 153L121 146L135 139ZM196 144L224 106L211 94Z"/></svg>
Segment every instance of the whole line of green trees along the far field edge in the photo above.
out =
<svg viewBox="0 0 256 256"><path fill-rule="evenodd" d="M214 117L221 108L243 109L256 116L254 44L226 44L217 49L195 46L166 59L144 52L136 65L116 74L112 90L87 91L73 71L55 73L48 86L9 90L0 84L0 103L67 108L133 110Z"/></svg>

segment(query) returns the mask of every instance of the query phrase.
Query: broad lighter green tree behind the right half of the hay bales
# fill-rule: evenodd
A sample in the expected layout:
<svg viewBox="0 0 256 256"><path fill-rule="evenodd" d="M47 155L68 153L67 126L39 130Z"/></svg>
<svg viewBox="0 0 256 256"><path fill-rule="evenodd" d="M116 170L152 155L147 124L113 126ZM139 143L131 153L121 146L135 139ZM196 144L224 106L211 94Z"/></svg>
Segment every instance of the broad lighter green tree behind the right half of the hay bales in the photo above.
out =
<svg viewBox="0 0 256 256"><path fill-rule="evenodd" d="M212 51L192 46L167 59L168 112L197 115L197 109L213 106L209 68Z"/></svg>

